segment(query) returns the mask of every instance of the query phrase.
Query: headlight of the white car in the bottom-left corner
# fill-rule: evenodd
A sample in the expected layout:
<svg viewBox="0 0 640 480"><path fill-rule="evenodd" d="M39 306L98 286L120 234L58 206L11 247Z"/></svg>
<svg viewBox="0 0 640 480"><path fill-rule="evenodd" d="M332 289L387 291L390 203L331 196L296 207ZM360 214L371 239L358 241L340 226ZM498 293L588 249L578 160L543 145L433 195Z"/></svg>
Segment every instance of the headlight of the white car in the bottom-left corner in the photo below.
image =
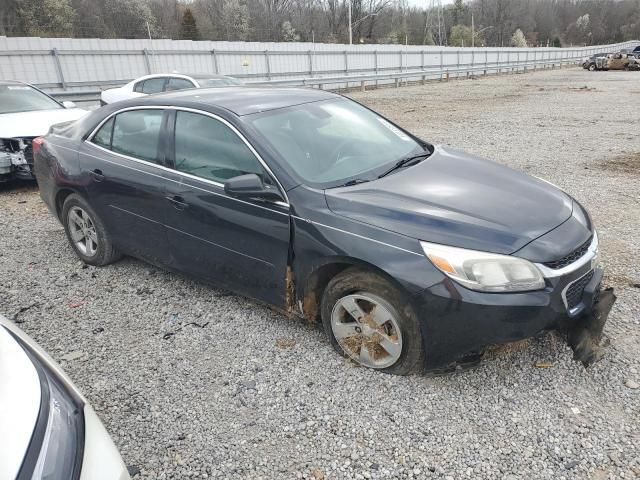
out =
<svg viewBox="0 0 640 480"><path fill-rule="evenodd" d="M22 344L22 342L20 342ZM40 414L18 478L76 480L84 445L83 405L46 365L22 347L40 376Z"/></svg>

